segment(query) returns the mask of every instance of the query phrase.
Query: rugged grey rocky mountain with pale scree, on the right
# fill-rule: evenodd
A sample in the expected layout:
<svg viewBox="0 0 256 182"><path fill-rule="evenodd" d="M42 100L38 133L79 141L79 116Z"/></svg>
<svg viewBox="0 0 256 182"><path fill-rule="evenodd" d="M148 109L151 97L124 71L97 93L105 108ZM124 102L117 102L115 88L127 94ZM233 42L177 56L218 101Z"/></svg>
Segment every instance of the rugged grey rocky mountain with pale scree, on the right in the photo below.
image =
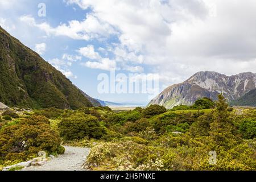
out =
<svg viewBox="0 0 256 182"><path fill-rule="evenodd" d="M229 101L236 100L256 88L256 74L247 72L226 76L217 72L198 72L188 80L163 90L148 105L158 104L170 109L176 105L192 105L198 98L217 100L223 93Z"/></svg>

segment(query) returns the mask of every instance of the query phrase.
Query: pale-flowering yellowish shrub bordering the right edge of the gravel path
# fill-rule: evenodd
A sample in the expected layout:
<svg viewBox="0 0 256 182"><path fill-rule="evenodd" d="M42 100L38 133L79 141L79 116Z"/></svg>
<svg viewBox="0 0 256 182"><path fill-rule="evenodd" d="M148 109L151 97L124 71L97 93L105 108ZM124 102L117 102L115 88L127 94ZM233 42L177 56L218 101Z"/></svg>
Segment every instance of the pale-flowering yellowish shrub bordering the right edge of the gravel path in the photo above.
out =
<svg viewBox="0 0 256 182"><path fill-rule="evenodd" d="M147 152L146 145L131 140L99 143L90 151L86 164L92 169L97 169L97 165L112 170L133 170L146 160Z"/></svg>

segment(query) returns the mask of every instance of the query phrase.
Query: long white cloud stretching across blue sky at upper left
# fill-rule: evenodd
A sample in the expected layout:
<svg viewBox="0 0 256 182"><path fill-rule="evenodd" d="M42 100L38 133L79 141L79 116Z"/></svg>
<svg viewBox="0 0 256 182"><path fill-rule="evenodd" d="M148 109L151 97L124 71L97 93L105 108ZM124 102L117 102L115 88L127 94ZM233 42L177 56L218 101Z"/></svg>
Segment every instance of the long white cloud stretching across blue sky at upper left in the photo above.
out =
<svg viewBox="0 0 256 182"><path fill-rule="evenodd" d="M46 22L36 23L35 18L31 15L23 15L19 19L30 26L38 27L46 32L48 36L68 36L76 40L90 40L105 38L116 33L108 23L101 22L90 14L86 15L86 18L82 21L71 20L68 24L60 24L55 28Z"/></svg>

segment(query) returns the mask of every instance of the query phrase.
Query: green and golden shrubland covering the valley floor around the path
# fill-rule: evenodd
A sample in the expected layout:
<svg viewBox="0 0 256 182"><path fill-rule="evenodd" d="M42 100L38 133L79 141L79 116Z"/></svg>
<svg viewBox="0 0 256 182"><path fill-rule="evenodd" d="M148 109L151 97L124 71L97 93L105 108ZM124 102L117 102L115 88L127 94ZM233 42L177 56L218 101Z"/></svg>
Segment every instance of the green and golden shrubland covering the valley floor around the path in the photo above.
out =
<svg viewBox="0 0 256 182"><path fill-rule="evenodd" d="M92 170L255 170L255 137L256 109L232 109L222 95L172 110L8 110L0 117L0 168L39 150L61 154L62 140L92 148L86 162ZM217 160L209 163L212 151Z"/></svg>

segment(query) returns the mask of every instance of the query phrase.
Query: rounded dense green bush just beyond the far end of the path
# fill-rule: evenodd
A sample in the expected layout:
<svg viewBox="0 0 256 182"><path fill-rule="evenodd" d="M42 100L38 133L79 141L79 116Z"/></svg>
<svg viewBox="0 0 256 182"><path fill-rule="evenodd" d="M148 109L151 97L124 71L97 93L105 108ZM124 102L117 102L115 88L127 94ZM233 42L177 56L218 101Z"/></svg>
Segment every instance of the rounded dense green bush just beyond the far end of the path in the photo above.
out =
<svg viewBox="0 0 256 182"><path fill-rule="evenodd" d="M58 126L60 135L65 140L84 137L101 138L105 133L104 126L96 117L84 113L75 113L68 118L63 118Z"/></svg>

